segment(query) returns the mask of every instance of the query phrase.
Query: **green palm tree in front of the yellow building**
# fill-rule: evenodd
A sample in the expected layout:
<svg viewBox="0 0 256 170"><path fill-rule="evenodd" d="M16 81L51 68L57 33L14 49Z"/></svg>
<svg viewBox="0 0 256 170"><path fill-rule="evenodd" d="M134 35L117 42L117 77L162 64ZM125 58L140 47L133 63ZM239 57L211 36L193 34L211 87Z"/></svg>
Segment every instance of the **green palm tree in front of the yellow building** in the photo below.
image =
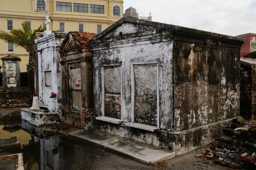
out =
<svg viewBox="0 0 256 170"><path fill-rule="evenodd" d="M29 54L29 88L34 92L34 80L35 80L35 45L34 40L36 38L37 31L44 31L45 27L42 25L36 29L31 30L26 22L22 23L22 29L12 29L10 33L0 31L0 39L6 43L13 43L15 47L24 48Z"/></svg>

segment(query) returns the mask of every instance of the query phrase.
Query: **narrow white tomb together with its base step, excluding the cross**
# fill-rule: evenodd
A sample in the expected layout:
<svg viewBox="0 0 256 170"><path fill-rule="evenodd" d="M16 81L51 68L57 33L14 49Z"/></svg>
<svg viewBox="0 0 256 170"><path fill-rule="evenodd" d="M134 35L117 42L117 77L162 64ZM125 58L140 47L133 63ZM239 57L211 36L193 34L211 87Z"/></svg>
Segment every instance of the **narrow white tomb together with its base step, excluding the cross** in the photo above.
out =
<svg viewBox="0 0 256 170"><path fill-rule="evenodd" d="M36 126L56 123L61 117L62 80L59 51L66 36L66 33L54 32L35 39L38 54L38 105L41 109L21 109L21 115L22 120ZM51 98L50 102L52 92L57 96Z"/></svg>

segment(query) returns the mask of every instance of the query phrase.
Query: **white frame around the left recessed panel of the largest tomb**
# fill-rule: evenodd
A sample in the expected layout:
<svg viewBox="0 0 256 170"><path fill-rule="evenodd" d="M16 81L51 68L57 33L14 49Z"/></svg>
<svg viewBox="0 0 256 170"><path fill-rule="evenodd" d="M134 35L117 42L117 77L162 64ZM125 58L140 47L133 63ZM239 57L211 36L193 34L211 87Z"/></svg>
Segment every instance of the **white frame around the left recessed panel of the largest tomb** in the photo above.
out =
<svg viewBox="0 0 256 170"><path fill-rule="evenodd" d="M102 64L101 65L101 116L105 116L105 82L104 82L104 67L108 66L119 66L120 69L120 79L121 79L121 87L120 87L120 99L121 99L121 121L124 119L123 114L123 67L122 63L111 63L111 64Z"/></svg>

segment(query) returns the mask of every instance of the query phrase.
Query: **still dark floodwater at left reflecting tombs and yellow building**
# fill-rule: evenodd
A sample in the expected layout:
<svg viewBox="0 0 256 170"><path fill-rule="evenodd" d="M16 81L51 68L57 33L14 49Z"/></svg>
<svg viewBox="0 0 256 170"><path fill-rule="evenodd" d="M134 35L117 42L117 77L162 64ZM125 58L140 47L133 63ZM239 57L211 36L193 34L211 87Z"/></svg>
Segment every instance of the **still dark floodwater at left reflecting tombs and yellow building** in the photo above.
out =
<svg viewBox="0 0 256 170"><path fill-rule="evenodd" d="M21 121L19 117L8 121L1 120L2 117L0 138L19 136L22 150L18 152L23 153L26 170L95 169L99 158L104 157L104 152L100 148L95 148L93 144L56 135L54 132Z"/></svg>

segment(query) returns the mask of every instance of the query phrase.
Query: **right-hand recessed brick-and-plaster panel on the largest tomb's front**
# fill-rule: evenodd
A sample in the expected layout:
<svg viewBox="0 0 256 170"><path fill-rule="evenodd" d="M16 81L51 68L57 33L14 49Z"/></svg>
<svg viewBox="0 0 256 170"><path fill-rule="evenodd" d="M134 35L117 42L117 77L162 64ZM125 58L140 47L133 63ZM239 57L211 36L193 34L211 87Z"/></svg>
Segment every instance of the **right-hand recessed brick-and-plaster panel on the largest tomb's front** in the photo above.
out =
<svg viewBox="0 0 256 170"><path fill-rule="evenodd" d="M134 65L133 71L134 122L157 126L157 65Z"/></svg>

